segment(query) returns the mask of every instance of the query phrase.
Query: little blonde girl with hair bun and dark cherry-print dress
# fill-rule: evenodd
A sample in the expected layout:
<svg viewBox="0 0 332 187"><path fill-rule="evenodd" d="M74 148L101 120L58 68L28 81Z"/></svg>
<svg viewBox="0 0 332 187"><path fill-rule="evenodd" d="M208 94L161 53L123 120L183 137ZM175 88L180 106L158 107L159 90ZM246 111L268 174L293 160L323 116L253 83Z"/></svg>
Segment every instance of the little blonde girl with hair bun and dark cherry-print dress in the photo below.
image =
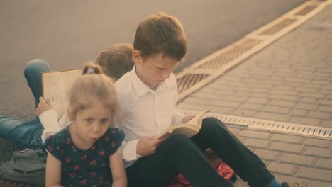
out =
<svg viewBox="0 0 332 187"><path fill-rule="evenodd" d="M121 120L113 81L99 65L89 63L68 96L73 123L45 141L46 186L126 186L124 134L110 127L112 120ZM54 110L50 103L46 106L43 111Z"/></svg>

